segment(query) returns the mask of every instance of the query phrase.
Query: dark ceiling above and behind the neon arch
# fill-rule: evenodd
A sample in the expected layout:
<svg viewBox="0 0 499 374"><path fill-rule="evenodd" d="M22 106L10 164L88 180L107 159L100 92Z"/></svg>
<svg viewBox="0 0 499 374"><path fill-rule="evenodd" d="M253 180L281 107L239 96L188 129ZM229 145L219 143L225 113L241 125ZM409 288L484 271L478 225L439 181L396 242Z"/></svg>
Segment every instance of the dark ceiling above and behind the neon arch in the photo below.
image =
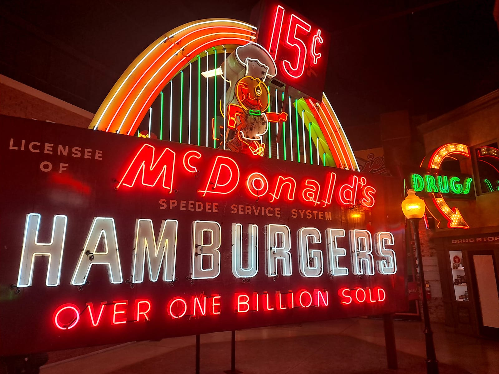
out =
<svg viewBox="0 0 499 374"><path fill-rule="evenodd" d="M284 1L332 33L326 94L345 126L442 114L499 87L494 0ZM2 1L0 73L95 112L130 62L188 21L255 1Z"/></svg>

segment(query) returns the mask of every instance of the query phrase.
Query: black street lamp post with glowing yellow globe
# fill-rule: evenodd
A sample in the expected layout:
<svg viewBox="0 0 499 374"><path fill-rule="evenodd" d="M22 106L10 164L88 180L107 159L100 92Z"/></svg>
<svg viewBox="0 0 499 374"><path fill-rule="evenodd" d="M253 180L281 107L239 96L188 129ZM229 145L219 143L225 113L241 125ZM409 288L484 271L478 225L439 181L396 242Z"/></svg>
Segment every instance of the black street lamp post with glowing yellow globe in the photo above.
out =
<svg viewBox="0 0 499 374"><path fill-rule="evenodd" d="M430 326L430 313L425 294L425 273L423 270L423 259L421 258L421 246L419 243L419 221L425 214L425 203L422 198L416 195L414 189L407 191L407 197L402 201L402 211L411 222L414 232L414 245L416 247L416 258L419 269L419 291L423 304L423 320L425 323L425 343L426 343L426 372L428 374L438 374L438 363L435 355L435 345L433 343L433 331Z"/></svg>

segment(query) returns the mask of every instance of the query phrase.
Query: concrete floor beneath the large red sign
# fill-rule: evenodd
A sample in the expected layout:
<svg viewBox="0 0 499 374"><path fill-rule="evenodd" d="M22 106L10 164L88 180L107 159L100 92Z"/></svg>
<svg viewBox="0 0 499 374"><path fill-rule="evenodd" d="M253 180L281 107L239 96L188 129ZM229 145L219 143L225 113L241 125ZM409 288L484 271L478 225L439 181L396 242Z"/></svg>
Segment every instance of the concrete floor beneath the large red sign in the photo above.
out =
<svg viewBox="0 0 499 374"><path fill-rule="evenodd" d="M426 373L421 322L395 321L399 370L386 369L383 322L345 319L237 332L237 369L250 373ZM499 374L499 342L432 325L441 374ZM201 336L201 373L230 369L229 332ZM41 374L194 373L195 338L129 343L50 363Z"/></svg>

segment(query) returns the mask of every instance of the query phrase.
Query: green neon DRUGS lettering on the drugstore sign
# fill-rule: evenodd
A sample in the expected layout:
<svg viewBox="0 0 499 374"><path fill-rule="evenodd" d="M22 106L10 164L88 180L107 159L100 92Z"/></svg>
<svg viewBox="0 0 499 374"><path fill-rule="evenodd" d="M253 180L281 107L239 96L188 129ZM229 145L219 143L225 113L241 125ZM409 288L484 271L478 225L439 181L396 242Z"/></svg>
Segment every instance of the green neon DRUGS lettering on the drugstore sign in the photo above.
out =
<svg viewBox="0 0 499 374"><path fill-rule="evenodd" d="M460 177L411 174L412 188L416 192L424 189L426 192L467 194L470 193L472 183L471 177L461 179Z"/></svg>

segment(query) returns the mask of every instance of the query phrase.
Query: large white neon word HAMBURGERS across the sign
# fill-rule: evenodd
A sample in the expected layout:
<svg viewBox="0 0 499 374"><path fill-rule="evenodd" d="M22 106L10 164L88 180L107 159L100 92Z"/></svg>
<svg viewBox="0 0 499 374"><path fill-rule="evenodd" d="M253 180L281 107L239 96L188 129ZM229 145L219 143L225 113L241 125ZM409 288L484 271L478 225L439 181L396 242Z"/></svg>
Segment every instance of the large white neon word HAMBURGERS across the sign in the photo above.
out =
<svg viewBox="0 0 499 374"><path fill-rule="evenodd" d="M48 256L46 286L60 284L62 257L66 238L66 215L53 216L52 237L49 243L38 242L38 230L41 215L29 213L26 215L22 252L17 277L17 287L32 285L33 270L36 256ZM149 280L156 282L163 267L164 282L172 282L176 277L178 226L175 219L164 219L158 235L150 219L135 220L134 243L132 256L132 283L144 281L146 272ZM128 227L131 229L132 227ZM126 229L126 228L125 228ZM225 228L232 237L232 273L235 278L252 278L258 274L258 225L249 224L247 228L249 242L243 248L243 225L233 223ZM325 235L324 239L322 235ZM374 235L367 230L349 230L350 251L338 246L338 238L346 236L341 228L327 228L325 231L315 227L302 227L291 235L291 230L284 224L267 224L264 227L265 274L267 277L292 275L293 257L296 256L298 268L302 277L320 277L326 269L329 276L345 276L350 270L340 266L339 259L350 257L352 272L355 275L392 275L397 272L397 261L394 236L391 232L380 231ZM294 243L292 237L297 238ZM190 279L213 279L220 275L221 270L221 239L222 227L217 221L196 220L192 222L192 236L189 253ZM98 251L101 241L106 248ZM313 249L309 245L313 245ZM322 244L322 249L317 245ZM297 248L294 254L293 247ZM325 253L324 253L325 252ZM349 252L349 253L348 253ZM378 257L375 260L374 254ZM326 259L324 259L326 257ZM243 261L243 258L247 261ZM105 266L108 270L109 282L122 283L122 266L118 249L118 239L114 219L111 217L95 217L88 230L87 238L79 260L71 277L70 284L79 286L85 284L90 270L95 266Z"/></svg>

